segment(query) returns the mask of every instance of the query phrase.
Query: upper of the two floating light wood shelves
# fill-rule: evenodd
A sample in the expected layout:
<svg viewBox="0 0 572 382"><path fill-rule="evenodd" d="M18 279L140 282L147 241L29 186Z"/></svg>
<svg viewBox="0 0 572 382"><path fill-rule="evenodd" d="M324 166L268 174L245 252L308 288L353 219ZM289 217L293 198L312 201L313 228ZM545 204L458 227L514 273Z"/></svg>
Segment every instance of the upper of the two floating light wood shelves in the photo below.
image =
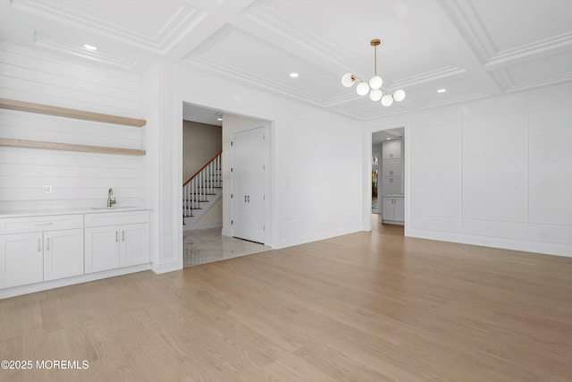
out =
<svg viewBox="0 0 572 382"><path fill-rule="evenodd" d="M86 112L83 110L68 109L66 107L34 104L31 102L16 101L14 99L0 98L0 108L19 110L22 112L38 113L43 115L56 115L67 118L83 119L88 121L123 124L126 126L141 127L147 121L144 119L128 118L118 115L104 115L100 113Z"/></svg>

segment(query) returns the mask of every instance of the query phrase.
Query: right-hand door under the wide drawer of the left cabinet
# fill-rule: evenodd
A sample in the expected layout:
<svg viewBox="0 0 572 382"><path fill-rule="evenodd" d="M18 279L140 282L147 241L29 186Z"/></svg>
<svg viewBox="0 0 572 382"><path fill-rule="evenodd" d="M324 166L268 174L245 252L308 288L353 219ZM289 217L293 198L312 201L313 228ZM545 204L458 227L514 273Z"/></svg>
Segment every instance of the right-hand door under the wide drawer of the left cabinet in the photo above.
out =
<svg viewBox="0 0 572 382"><path fill-rule="evenodd" d="M44 233L44 281L83 275L83 230Z"/></svg>

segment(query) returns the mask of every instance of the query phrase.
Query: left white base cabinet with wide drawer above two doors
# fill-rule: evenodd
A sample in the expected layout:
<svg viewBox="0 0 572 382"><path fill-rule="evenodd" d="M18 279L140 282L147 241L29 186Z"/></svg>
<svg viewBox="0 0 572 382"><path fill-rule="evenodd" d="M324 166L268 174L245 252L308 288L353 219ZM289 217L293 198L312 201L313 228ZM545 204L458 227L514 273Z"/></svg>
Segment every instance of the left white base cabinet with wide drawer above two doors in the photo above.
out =
<svg viewBox="0 0 572 382"><path fill-rule="evenodd" d="M0 288L83 274L83 215L0 218Z"/></svg>

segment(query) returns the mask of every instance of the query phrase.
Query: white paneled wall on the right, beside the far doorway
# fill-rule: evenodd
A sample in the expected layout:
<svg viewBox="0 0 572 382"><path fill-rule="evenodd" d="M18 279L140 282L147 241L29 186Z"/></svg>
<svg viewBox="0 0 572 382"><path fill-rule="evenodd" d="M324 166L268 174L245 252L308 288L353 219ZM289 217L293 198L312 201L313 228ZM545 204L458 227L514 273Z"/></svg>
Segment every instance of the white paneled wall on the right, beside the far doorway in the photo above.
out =
<svg viewBox="0 0 572 382"><path fill-rule="evenodd" d="M406 125L406 234L572 256L572 85L367 123Z"/></svg>

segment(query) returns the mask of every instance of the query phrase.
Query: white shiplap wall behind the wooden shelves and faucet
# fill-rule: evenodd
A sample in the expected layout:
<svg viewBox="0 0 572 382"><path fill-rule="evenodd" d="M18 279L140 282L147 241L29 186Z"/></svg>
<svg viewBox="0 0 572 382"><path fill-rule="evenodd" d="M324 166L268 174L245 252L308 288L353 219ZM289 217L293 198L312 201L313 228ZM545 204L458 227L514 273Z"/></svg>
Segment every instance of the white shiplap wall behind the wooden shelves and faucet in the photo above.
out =
<svg viewBox="0 0 572 382"><path fill-rule="evenodd" d="M143 118L139 78L0 43L0 98ZM137 127L0 109L0 137L142 149ZM141 198L142 158L0 147L0 211L118 205ZM46 194L45 186L52 186Z"/></svg>

